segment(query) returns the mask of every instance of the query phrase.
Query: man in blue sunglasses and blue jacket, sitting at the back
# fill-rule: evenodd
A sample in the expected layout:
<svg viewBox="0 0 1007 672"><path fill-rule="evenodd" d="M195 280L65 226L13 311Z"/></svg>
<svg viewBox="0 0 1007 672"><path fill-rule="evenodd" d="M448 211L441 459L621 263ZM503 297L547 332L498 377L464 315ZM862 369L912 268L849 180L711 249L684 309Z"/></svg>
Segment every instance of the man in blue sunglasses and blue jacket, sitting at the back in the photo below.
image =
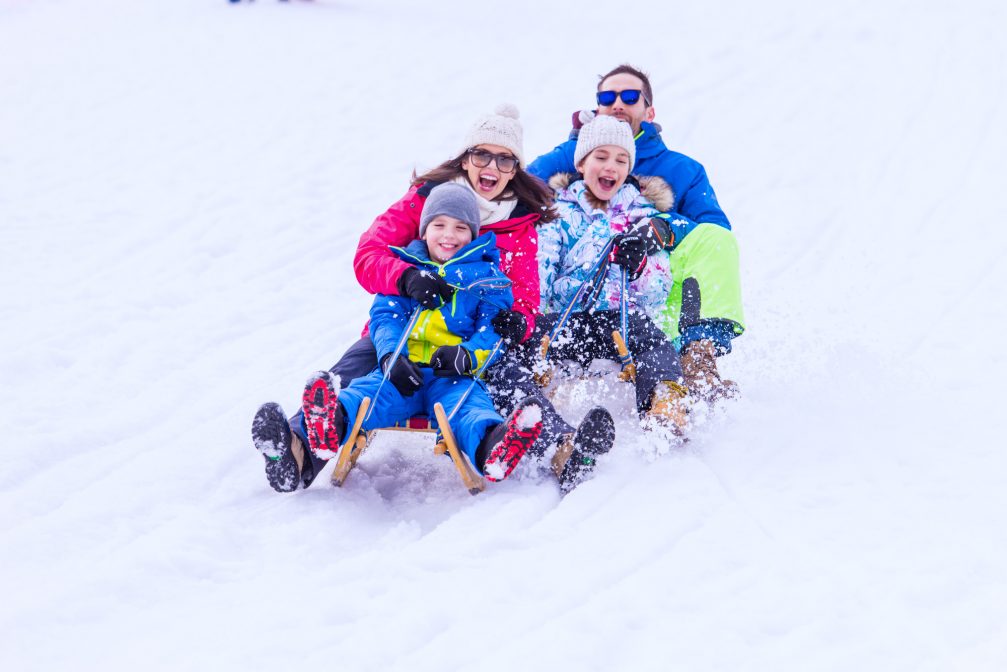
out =
<svg viewBox="0 0 1007 672"><path fill-rule="evenodd" d="M717 357L731 352L731 340L744 331L738 245L731 224L698 161L670 150L654 123L654 92L648 76L622 64L601 76L596 114L621 119L636 141L635 175L658 175L674 192L674 206L662 219L643 223L637 233L649 248L671 250L674 285L661 326L676 340L682 370L691 392L713 400L731 396L735 387L717 371ZM571 138L528 166L548 181L561 172L577 172L577 131L595 113L574 116Z"/></svg>

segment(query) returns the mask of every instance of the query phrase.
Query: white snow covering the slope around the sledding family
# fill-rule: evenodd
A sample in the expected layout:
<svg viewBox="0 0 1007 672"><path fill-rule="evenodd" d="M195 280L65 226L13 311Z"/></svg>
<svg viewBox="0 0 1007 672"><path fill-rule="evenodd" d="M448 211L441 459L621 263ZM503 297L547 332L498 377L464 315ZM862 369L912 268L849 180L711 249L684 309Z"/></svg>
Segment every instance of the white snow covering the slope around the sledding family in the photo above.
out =
<svg viewBox="0 0 1007 672"><path fill-rule="evenodd" d="M0 0L0 669L1007 668L1002 3L618 9ZM273 493L359 233L621 61L734 224L743 398L662 450L615 390L565 499L405 434Z"/></svg>

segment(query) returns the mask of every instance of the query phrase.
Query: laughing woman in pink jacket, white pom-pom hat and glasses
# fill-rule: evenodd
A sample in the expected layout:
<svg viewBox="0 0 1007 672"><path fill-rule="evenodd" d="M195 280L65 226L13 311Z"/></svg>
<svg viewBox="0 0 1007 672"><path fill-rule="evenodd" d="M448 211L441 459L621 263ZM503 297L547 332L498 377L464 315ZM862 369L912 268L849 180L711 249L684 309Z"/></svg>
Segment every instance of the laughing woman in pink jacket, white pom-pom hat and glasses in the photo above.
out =
<svg viewBox="0 0 1007 672"><path fill-rule="evenodd" d="M443 182L457 182L475 193L480 215L479 231L495 234L500 251L500 270L512 282L514 309L500 310L492 320L493 329L511 346L517 346L531 335L539 311L540 294L535 228L551 222L556 213L552 209L552 191L525 169L523 131L518 116L517 108L501 105L493 114L479 118L468 130L462 149L454 158L422 175L414 175L406 195L380 215L364 232L353 258L353 270L365 289L375 294L409 296L428 308L451 301L453 287L437 274L405 263L389 248L405 247L419 238L420 215L431 189ZM505 351L502 357L486 370L485 376L493 403L505 415L513 410L518 401L527 396L537 396L539 392L531 372L522 368L517 358L509 354L513 350ZM375 346L365 329L361 340L330 371L339 376L345 388L350 381L367 376L378 366ZM390 367L387 372L389 382L404 396L409 396L415 392L412 389L415 372L400 368L395 365ZM545 399L542 402L544 412L540 445L548 447L564 440L587 440L587 432L575 431L553 409L552 404ZM281 459L296 462L300 484L281 483L270 477L270 474L283 472L274 467L266 472L270 485L280 492L289 492L298 485L306 488L324 462L310 450L303 449L307 445L307 437L302 413L291 417L289 431L284 431L287 427L273 426L282 422L282 418L273 417L276 412L270 411L271 407L275 404L264 404L259 409L253 423L253 442L267 459L276 459L275 455L269 457L267 453L280 452ZM592 440L595 441L599 433L599 412L607 416L607 411L593 409L581 423L582 426L585 423L590 425ZM611 418L607 416L601 421L604 429L601 433L605 434L602 441L610 446L614 438L613 432L607 432ZM289 445L275 446L274 443L281 438ZM263 450L263 447L269 450ZM288 474L294 473L295 465L290 466Z"/></svg>

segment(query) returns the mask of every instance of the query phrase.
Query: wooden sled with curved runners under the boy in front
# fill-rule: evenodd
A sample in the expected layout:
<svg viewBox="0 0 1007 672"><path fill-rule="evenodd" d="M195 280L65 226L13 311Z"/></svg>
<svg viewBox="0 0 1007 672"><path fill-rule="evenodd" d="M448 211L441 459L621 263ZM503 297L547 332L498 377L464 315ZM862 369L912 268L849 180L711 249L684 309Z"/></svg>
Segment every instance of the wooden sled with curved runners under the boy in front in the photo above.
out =
<svg viewBox="0 0 1007 672"><path fill-rule="evenodd" d="M458 443L454 438L454 432L451 431L451 425L447 421L447 413L444 412L444 407L440 402L434 404L434 415L437 420L437 427L434 427L433 423L428 418L411 418L406 422L392 427L382 427L381 429L375 429L368 432L362 429L364 424L364 418L368 414L368 409L371 407L371 399L365 399L361 402L361 407L356 411L356 418L353 420L353 427L349 432L349 436L346 438L345 444L342 449L339 450L339 456L336 458L335 468L332 469L332 485L336 487L341 487L343 483L346 482L346 477L356 465L356 460L359 458L364 450L367 449L370 443L370 438L373 437L374 432L377 431L419 431L419 432L440 432L441 440L437 441L434 445L434 454L443 455L447 454L451 461L454 462L455 468L458 469L458 476L461 477L461 482L464 484L465 489L468 491L469 495L478 495L486 488L486 482L479 476L479 473L475 471L472 466L471 460L468 456L458 448ZM439 428L439 429L438 429Z"/></svg>

